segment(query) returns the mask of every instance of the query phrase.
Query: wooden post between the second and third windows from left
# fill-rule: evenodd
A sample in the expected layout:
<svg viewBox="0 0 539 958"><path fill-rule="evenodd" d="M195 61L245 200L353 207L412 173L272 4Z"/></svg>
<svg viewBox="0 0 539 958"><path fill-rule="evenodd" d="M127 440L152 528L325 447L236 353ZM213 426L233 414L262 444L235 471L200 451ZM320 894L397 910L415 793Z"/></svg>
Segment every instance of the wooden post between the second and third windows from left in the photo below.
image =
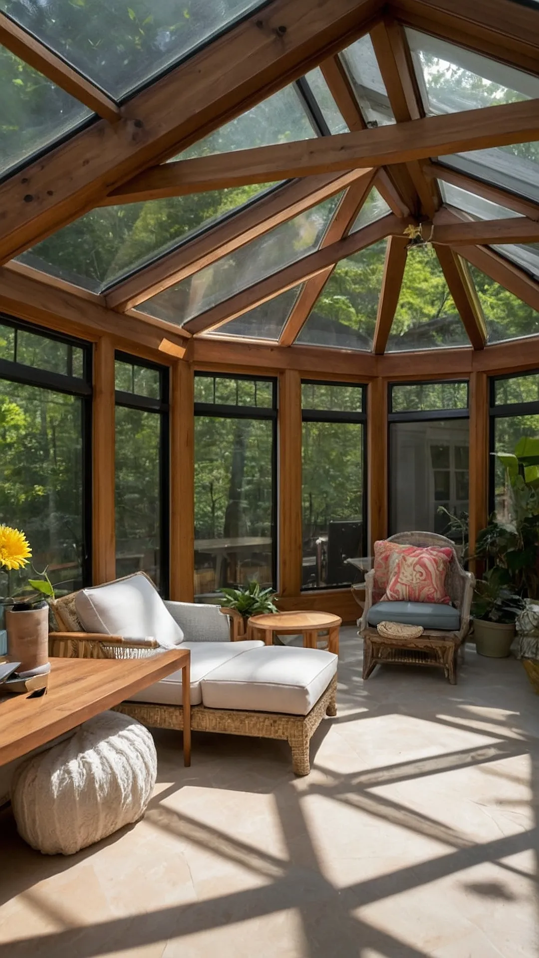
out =
<svg viewBox="0 0 539 958"><path fill-rule="evenodd" d="M178 360L171 387L171 599L195 599L195 380Z"/></svg>

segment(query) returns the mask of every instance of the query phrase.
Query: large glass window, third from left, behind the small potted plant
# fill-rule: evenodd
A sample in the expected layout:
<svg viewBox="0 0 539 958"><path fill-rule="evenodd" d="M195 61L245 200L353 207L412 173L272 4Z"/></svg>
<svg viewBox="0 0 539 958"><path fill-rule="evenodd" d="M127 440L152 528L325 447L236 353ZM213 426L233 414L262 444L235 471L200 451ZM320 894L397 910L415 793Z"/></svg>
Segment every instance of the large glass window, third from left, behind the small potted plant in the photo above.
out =
<svg viewBox="0 0 539 958"><path fill-rule="evenodd" d="M195 594L275 582L274 379L195 376Z"/></svg>

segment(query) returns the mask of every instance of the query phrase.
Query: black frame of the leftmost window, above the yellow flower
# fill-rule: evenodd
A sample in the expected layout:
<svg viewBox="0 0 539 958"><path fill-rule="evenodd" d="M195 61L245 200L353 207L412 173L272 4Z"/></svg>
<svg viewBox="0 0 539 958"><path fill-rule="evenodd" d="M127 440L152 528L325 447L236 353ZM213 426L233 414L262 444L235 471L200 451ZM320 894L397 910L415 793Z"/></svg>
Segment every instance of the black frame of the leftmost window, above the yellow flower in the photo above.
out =
<svg viewBox="0 0 539 958"><path fill-rule="evenodd" d="M79 376L62 376L61 373L51 373L47 370L35 369L25 363L12 362L9 359L0 359L0 378L21 386L35 386L38 389L48 389L53 393L63 393L76 396L82 400L82 554L81 573L83 587L93 583L92 552L93 552L93 459L92 459L92 421L93 421L93 343L76 336L63 335L59 332L48 331L33 323L16 319L9 313L0 311L0 323L9 326L16 333L20 331L32 332L43 339L53 340L66 346L75 346L82 350L82 378Z"/></svg>

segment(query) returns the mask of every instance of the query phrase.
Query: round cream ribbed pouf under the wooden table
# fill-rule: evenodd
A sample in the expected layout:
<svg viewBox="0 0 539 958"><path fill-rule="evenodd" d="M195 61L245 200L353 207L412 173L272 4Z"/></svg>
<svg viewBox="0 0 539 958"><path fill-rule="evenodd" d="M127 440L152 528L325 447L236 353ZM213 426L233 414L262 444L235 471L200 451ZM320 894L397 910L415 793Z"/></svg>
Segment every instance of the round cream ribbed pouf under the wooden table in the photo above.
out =
<svg viewBox="0 0 539 958"><path fill-rule="evenodd" d="M44 855L73 855L140 818L156 773L148 729L104 712L17 768L12 810L18 833Z"/></svg>

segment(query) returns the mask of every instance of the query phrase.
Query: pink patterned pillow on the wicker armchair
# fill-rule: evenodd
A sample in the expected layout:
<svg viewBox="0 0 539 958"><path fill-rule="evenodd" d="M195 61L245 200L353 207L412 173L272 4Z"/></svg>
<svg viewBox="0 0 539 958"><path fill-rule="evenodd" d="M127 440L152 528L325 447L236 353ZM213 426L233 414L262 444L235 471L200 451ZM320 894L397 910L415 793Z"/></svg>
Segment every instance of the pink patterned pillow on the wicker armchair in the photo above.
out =
<svg viewBox="0 0 539 958"><path fill-rule="evenodd" d="M395 554L390 561L386 602L432 602L450 604L445 579L452 549L416 549L415 555Z"/></svg>

